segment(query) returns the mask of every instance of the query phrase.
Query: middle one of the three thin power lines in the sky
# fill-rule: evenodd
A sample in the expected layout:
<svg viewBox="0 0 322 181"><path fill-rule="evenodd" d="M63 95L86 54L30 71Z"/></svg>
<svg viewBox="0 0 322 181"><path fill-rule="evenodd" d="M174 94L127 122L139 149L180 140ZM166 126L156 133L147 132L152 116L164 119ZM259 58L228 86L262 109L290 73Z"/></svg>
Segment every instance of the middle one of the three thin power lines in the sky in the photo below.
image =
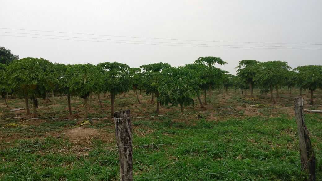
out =
<svg viewBox="0 0 322 181"><path fill-rule="evenodd" d="M0 31L0 33L14 33L14 32L1 32ZM127 42L145 42L145 43L170 43L170 44L214 45L214 46L246 46L246 47L322 48L322 47L319 47L319 46L317 46L317 47L307 47L307 46L259 46L259 45L225 45L225 44L150 42L150 41L118 40L118 39L106 39L106 38L88 38L88 37L77 37L77 36L60 36L60 35L48 35L48 34L34 34L34 33L16 33L16 34L29 34L29 35L40 35L40 36L55 36L55 37L66 37L66 38L85 38L85 39L95 39L95 40L127 41Z"/></svg>

